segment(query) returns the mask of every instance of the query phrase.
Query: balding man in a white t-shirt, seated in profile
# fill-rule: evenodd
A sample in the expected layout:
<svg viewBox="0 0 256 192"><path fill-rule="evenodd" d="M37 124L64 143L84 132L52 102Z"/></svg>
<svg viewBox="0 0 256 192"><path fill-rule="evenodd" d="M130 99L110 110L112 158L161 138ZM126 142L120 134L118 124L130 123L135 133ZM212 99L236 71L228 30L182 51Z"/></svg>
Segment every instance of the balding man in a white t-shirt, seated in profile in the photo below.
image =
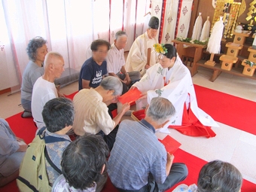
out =
<svg viewBox="0 0 256 192"><path fill-rule="evenodd" d="M44 75L35 81L32 91L32 116L38 129L45 126L41 114L44 104L50 99L58 97L54 80L59 78L64 70L62 55L56 52L47 53L44 62Z"/></svg>

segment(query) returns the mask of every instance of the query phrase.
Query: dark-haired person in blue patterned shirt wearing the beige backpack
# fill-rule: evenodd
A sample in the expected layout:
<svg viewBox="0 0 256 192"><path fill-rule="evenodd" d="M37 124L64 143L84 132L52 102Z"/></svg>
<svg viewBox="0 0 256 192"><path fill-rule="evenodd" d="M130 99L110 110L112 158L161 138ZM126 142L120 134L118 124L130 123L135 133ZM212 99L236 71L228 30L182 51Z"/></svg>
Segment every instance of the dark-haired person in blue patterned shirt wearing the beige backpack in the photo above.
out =
<svg viewBox="0 0 256 192"><path fill-rule="evenodd" d="M50 99L44 105L44 109L42 111L42 116L44 118L46 129L45 127L43 127L38 132L38 134L40 134L41 138L47 139L48 137L53 141L50 143L45 142L45 147L47 149L47 154L49 154L50 160L59 170L61 170L60 161L62 158L62 152L71 142L71 139L69 138L69 136L66 135L66 133L68 133L68 131L72 129L74 114L75 111L72 100L64 97ZM29 147L30 151L35 150L32 148L32 146ZM26 155L30 154L25 154L24 158L31 158L26 157ZM56 171L56 169L50 166L47 158L45 158L45 164L49 184L50 186L52 186L54 181L56 180L56 178L59 177L60 174ZM21 169L22 168L23 166L21 166Z"/></svg>

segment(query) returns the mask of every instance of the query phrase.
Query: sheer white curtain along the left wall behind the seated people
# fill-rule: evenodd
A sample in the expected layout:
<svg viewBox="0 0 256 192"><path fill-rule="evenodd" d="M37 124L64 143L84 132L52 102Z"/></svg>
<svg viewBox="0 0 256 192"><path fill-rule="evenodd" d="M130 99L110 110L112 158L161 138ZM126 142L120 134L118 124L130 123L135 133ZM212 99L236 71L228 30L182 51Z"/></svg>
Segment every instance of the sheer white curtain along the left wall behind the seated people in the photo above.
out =
<svg viewBox="0 0 256 192"><path fill-rule="evenodd" d="M139 20L136 6L144 13L148 1L0 0L0 90L20 90L29 62L26 47L35 36L47 40L49 51L62 54L66 69L78 72L98 38L112 43L114 33L123 29L129 36L125 50L130 50Z"/></svg>

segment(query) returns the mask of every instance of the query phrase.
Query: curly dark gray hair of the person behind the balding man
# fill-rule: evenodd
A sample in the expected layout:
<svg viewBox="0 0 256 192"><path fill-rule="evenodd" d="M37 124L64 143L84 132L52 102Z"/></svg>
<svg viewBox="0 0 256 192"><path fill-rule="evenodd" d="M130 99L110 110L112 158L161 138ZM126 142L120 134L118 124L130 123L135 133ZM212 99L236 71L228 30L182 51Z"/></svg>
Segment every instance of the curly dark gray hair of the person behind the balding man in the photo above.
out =
<svg viewBox="0 0 256 192"><path fill-rule="evenodd" d="M29 59L35 61L38 48L43 47L47 41L42 37L35 37L29 41L28 47L26 47L26 53L28 53Z"/></svg>

